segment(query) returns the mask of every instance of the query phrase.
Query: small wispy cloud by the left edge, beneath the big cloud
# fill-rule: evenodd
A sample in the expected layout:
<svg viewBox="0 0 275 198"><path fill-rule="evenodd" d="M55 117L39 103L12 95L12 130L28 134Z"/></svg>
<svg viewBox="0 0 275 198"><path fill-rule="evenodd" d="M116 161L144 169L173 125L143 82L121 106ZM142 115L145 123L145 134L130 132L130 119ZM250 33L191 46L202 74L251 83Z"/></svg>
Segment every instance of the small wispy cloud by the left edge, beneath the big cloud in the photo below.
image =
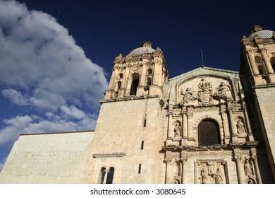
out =
<svg viewBox="0 0 275 198"><path fill-rule="evenodd" d="M1 91L2 95L8 100L11 100L11 103L14 103L19 106L27 105L27 98L25 98L20 91L8 88Z"/></svg>

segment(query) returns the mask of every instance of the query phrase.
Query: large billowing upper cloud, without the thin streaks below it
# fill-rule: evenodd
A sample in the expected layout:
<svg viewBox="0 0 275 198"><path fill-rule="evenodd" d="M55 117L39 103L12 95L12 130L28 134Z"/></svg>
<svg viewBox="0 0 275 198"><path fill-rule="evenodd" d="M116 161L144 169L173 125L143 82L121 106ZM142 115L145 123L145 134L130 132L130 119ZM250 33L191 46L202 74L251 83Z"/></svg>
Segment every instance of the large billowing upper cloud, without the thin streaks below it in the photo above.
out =
<svg viewBox="0 0 275 198"><path fill-rule="evenodd" d="M107 86L102 67L47 13L0 1L0 46L0 85L32 93L29 102L37 109L58 110L66 103L99 107Z"/></svg>

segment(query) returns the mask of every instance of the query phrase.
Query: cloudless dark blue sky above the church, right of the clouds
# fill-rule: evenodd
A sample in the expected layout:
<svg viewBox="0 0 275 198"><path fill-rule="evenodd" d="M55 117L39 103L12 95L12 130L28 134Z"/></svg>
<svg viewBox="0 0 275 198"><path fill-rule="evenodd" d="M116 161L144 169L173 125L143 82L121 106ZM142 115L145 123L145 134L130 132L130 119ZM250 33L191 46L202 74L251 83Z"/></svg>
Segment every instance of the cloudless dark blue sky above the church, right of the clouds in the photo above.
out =
<svg viewBox="0 0 275 198"><path fill-rule="evenodd" d="M170 77L200 66L201 50L204 65L238 71L241 37L256 24L275 29L275 1L22 2L54 16L108 75L114 57L147 40L164 51Z"/></svg>

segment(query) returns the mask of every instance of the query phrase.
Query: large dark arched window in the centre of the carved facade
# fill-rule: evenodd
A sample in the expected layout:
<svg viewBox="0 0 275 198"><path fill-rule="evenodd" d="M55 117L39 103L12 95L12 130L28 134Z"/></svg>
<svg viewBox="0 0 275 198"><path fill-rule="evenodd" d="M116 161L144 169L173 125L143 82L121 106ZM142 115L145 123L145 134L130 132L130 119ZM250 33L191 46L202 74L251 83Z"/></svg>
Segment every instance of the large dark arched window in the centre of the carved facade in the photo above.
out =
<svg viewBox="0 0 275 198"><path fill-rule="evenodd" d="M221 144L219 125L213 120L202 120L198 127L199 146Z"/></svg>

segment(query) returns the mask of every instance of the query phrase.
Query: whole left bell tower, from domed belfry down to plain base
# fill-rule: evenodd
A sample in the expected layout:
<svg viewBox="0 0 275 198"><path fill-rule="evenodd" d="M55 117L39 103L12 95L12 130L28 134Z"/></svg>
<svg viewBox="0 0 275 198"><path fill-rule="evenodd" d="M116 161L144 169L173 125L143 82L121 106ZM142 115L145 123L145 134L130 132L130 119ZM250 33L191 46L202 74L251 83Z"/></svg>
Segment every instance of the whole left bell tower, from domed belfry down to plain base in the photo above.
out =
<svg viewBox="0 0 275 198"><path fill-rule="evenodd" d="M86 183L157 183L164 54L144 42L114 59L109 88L88 150ZM110 175L110 176L108 176ZM108 179L111 178L111 179Z"/></svg>

